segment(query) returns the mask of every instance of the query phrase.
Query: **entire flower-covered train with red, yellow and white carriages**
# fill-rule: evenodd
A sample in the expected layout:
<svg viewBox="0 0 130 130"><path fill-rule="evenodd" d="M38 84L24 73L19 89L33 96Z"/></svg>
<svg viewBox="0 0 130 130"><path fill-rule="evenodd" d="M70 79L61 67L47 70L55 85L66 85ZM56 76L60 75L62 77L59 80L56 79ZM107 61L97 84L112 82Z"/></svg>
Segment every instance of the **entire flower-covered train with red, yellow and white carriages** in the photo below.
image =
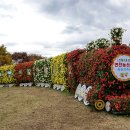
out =
<svg viewBox="0 0 130 130"><path fill-rule="evenodd" d="M97 39L86 49L52 58L0 67L0 87L36 86L68 90L85 105L112 113L130 113L130 47L122 28L112 40ZM11 85L10 85L11 84Z"/></svg>

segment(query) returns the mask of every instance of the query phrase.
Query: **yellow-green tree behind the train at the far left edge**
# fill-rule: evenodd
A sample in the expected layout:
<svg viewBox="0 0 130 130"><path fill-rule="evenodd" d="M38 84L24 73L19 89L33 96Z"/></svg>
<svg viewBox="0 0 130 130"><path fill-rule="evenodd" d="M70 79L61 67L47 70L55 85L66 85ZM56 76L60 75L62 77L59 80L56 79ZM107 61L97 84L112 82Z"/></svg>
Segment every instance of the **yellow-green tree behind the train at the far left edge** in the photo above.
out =
<svg viewBox="0 0 130 130"><path fill-rule="evenodd" d="M2 44L0 46L0 66L10 65L11 63L11 54L6 50L6 47Z"/></svg>

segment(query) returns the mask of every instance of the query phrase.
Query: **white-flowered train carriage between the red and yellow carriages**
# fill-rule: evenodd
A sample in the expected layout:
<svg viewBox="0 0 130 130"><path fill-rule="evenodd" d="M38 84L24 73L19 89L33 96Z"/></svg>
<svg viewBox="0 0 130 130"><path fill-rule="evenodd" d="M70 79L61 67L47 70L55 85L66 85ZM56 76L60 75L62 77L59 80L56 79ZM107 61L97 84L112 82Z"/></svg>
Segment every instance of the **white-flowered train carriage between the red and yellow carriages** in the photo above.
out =
<svg viewBox="0 0 130 130"><path fill-rule="evenodd" d="M50 59L45 58L34 62L33 77L36 86L51 86Z"/></svg>

